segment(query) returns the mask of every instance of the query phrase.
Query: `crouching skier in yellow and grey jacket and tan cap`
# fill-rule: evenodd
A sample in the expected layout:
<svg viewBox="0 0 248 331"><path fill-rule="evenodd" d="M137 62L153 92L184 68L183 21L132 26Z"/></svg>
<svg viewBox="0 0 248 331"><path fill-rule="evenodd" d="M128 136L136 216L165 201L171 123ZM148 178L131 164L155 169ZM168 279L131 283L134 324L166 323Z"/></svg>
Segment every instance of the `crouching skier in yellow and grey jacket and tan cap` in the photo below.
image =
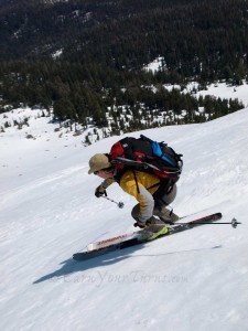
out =
<svg viewBox="0 0 248 331"><path fill-rule="evenodd" d="M165 223L173 224L179 220L173 211L166 209L176 196L176 184L170 184L153 173L137 169L127 169L119 174L109 160L107 153L97 153L89 160L88 173L104 179L96 188L96 197L107 195L106 189L117 182L125 192L138 201L131 212L136 220L134 226L152 233L150 239L168 233Z"/></svg>

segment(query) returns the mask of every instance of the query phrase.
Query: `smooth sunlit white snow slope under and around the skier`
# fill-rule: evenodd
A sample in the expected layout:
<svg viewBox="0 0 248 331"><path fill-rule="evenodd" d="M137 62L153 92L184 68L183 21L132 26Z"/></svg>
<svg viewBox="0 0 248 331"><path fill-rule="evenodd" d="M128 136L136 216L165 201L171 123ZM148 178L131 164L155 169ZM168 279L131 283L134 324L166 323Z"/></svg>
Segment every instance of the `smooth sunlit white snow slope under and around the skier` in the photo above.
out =
<svg viewBox="0 0 248 331"><path fill-rule="evenodd" d="M0 330L248 330L247 127L248 108L143 132L184 154L176 213L220 211L239 227L206 225L86 263L73 253L133 229L136 201L118 185L108 194L125 209L97 200L99 179L87 174L89 157L118 138L84 148L50 132L1 135Z"/></svg>

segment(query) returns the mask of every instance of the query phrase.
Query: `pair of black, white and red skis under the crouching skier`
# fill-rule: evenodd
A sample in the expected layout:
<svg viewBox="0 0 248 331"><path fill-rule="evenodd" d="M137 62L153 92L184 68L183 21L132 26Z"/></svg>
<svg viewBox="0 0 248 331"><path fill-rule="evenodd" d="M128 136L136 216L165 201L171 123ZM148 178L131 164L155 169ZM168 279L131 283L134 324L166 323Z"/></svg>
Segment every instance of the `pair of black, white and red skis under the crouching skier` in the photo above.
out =
<svg viewBox="0 0 248 331"><path fill-rule="evenodd" d="M209 224L212 222L216 222L216 221L220 220L222 216L223 216L222 213L215 213L215 214L212 214L212 215L207 215L207 216L204 216L204 217L193 220L193 221L187 222L187 223L181 223L181 224L175 224L173 226L168 226L169 232L164 235L159 236L155 239L159 239L159 238L162 238L164 236L169 236L169 235L172 235L172 234L175 234L175 233L180 233L180 232L183 232L185 229L193 228L195 226L200 226L200 225L203 225L203 224ZM149 241L143 239L141 237L141 233L143 231L145 231L145 229L141 229L141 231L137 231L137 232L133 232L133 233L116 236L114 238L109 238L109 239L106 239L106 241L97 242L97 243L95 243L95 246L94 246L94 244L90 244L91 246L89 245L88 248L89 247L91 247L91 248L96 247L96 248L87 250L87 252L75 253L73 255L73 258L75 260L87 260L87 259L98 257L98 256L101 256L101 255L105 255L105 254L108 254L108 253L111 253L111 252L115 252L115 250L125 249L127 247L132 247L132 246L136 246L136 245L145 244Z"/></svg>

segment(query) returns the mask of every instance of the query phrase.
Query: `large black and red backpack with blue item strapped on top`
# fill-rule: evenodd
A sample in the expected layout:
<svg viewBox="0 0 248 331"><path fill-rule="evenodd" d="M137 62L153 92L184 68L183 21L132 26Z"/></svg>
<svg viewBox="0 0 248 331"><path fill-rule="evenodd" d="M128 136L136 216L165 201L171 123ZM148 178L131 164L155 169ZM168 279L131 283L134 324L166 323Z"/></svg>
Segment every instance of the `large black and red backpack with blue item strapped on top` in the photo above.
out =
<svg viewBox="0 0 248 331"><path fill-rule="evenodd" d="M182 172L182 154L166 143L153 141L143 135L127 137L117 141L110 150L110 162L117 170L117 178L128 169L147 171L174 184Z"/></svg>

